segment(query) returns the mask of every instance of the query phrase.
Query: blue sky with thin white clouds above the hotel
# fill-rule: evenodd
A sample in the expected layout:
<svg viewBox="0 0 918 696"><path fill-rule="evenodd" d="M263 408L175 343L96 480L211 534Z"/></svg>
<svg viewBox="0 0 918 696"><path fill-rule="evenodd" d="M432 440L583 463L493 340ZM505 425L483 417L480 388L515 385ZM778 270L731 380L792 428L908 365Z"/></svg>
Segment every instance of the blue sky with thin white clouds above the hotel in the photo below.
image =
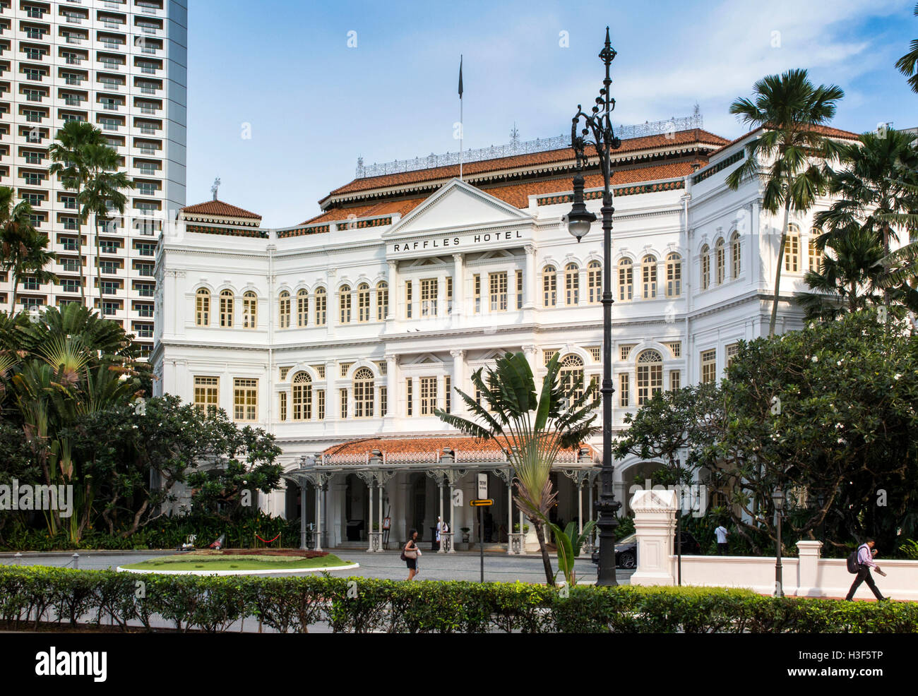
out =
<svg viewBox="0 0 918 696"><path fill-rule="evenodd" d="M801 67L845 90L838 128L918 125L918 95L894 68L918 37L913 0L189 5L187 203L219 175L221 200L272 227L318 214L358 155L456 152L460 53L466 149L508 142L514 121L521 140L569 132L601 86L607 24L617 122L698 103L706 129L735 138L733 99Z"/></svg>

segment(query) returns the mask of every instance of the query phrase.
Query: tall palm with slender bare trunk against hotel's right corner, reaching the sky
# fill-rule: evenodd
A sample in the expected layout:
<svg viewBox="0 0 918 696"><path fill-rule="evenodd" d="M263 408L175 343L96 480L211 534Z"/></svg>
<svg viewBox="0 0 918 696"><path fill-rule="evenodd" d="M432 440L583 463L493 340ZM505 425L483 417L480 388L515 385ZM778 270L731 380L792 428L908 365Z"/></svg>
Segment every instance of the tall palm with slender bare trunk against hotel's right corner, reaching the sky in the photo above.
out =
<svg viewBox="0 0 918 696"><path fill-rule="evenodd" d="M823 193L825 175L816 160L832 160L837 153L837 145L825 137L823 127L834 117L835 102L845 93L834 84L813 86L805 70L767 75L753 85L753 92L755 101L741 97L730 105L730 113L763 132L746 146L744 163L727 176L726 183L735 191L746 179L761 177L765 184L762 207L772 215L784 208L768 322L768 335L774 336L790 210L809 210Z"/></svg>

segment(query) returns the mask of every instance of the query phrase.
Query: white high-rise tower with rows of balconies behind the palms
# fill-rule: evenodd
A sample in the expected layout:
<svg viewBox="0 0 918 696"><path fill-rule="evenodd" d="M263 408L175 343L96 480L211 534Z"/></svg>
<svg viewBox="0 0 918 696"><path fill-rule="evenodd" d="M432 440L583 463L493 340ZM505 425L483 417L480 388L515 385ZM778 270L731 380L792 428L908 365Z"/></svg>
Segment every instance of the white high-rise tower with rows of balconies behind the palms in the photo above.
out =
<svg viewBox="0 0 918 696"><path fill-rule="evenodd" d="M152 346L153 260L162 220L185 205L185 0L0 0L0 184L34 208L58 254L56 283L20 282L19 307L80 301ZM75 193L50 176L48 146L73 119L102 129L118 151L124 216L92 219L78 238ZM0 306L12 279L0 272Z"/></svg>

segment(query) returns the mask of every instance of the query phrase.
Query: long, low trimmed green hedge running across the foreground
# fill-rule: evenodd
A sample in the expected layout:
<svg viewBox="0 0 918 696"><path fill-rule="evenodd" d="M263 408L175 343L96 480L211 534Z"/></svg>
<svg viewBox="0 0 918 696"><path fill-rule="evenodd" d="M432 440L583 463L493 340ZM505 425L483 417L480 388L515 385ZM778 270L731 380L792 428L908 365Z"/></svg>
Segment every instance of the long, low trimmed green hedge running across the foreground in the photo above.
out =
<svg viewBox="0 0 918 696"><path fill-rule="evenodd" d="M141 584L142 583L142 584ZM0 567L0 621L129 623L220 633L241 618L336 633L915 633L918 604L773 599L747 590L199 577ZM254 626L250 623L250 628ZM137 630L133 628L131 630Z"/></svg>

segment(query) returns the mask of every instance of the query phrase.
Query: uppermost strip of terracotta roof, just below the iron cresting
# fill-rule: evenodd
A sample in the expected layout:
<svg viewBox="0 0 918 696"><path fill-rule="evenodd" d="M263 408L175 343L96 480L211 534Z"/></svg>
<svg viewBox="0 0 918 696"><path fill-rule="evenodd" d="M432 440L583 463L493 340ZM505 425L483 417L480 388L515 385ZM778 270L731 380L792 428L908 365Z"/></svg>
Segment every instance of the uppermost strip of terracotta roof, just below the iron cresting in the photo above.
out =
<svg viewBox="0 0 918 696"><path fill-rule="evenodd" d="M616 153L636 152L640 150L652 150L673 145L686 145L690 143L702 143L714 145L717 147L725 144L727 140L718 135L703 129L679 130L673 134L673 137L667 137L666 134L644 136L643 138L630 138L621 140L621 148ZM483 160L480 162L470 162L463 164L464 174L483 174L487 172L496 172L502 169L511 169L515 167L524 167L537 164L550 164L565 162L574 159L574 151L571 148L562 150L549 150L546 152L532 152L532 154L521 154L514 157L501 157L496 160ZM402 184L417 184L425 181L435 181L438 179L449 179L459 175L459 165L454 164L445 167L436 167L434 169L419 169L414 172L403 172L401 174L386 174L384 176L371 176L365 179L354 179L350 184L343 185L330 192L329 196L354 193L357 191L368 191L374 188L385 188L388 186Z"/></svg>

